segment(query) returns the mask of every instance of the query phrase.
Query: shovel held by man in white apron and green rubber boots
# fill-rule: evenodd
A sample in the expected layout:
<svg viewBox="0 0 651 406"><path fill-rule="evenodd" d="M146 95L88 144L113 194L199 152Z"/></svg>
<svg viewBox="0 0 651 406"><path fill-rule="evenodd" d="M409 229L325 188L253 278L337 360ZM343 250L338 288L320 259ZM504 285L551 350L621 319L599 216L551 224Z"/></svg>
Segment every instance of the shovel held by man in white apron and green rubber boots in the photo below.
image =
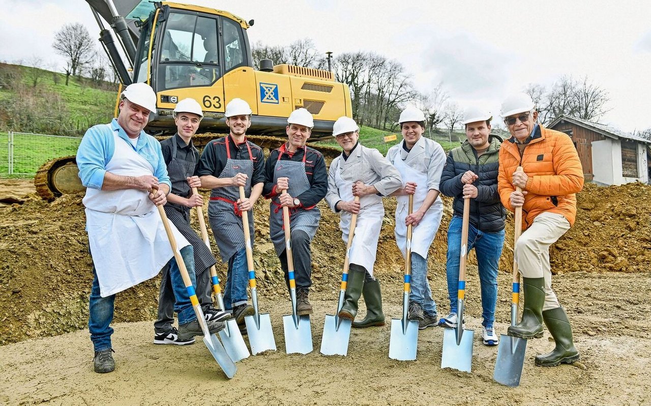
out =
<svg viewBox="0 0 651 406"><path fill-rule="evenodd" d="M355 203L359 202L359 196L355 196ZM350 326L352 321L340 319L338 314L344 305L344 294L346 293L346 281L348 280L348 267L350 264L350 246L353 245L355 236L355 225L357 214L353 213L350 218L350 231L348 232L348 243L346 244L346 258L344 259L344 272L341 275L341 288L339 290L339 301L335 314L326 314L324 322L324 336L321 340L321 353L323 355L348 355L348 340L350 340Z"/></svg>

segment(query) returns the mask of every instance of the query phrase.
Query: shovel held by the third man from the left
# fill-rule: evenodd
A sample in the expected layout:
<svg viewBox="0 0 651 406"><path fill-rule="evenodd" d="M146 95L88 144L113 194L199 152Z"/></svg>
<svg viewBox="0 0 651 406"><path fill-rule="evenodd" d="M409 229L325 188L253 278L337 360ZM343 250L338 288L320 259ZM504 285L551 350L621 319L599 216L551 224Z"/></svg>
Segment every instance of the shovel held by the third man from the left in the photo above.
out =
<svg viewBox="0 0 651 406"><path fill-rule="evenodd" d="M240 198L245 198L244 187L240 186ZM244 240L246 247L246 262L249 266L249 288L251 288L251 301L253 302L253 316L244 316L246 329L249 335L251 353L258 355L272 349L276 351L276 342L271 329L269 313L258 311L258 289L255 284L255 271L253 270L253 247L251 247L251 232L249 232L249 213L242 213L242 228L244 229Z"/></svg>

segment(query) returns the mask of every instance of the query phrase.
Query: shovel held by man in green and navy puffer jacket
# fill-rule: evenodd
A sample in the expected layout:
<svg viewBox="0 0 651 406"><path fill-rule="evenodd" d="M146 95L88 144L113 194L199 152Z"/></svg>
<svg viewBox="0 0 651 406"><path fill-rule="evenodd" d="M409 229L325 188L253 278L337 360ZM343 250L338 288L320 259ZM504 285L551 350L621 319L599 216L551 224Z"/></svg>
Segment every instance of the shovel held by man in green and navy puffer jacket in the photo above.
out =
<svg viewBox="0 0 651 406"><path fill-rule="evenodd" d="M473 360L475 331L464 329L465 260L468 257L468 223L470 198L464 198L464 220L461 226L461 258L459 260L459 290L456 299L456 328L443 331L441 368L470 372ZM465 334L464 334L465 333Z"/></svg>

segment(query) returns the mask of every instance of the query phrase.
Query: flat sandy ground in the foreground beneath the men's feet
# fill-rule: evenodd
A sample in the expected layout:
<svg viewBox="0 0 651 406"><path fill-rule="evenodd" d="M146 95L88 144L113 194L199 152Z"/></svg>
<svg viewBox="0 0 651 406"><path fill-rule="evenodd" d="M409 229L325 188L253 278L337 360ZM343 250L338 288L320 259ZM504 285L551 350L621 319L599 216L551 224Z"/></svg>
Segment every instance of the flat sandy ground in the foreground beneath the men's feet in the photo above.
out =
<svg viewBox="0 0 651 406"><path fill-rule="evenodd" d="M503 276L501 284L508 284ZM442 280L434 280L437 286ZM278 351L238 362L234 379L225 378L201 342L187 347L151 344L152 324L118 323L113 345L117 370L92 371L87 331L25 340L0 347L0 402L6 404L90 405L174 403L226 405L648 405L651 403L651 334L648 273L570 273L555 277L568 308L582 360L572 366L539 368L534 355L553 343L549 334L530 340L518 388L492 379L497 347L479 340L480 311L471 297L468 327L475 329L471 373L441 370L443 329L419 334L417 360L388 357L389 325L355 330L347 357L324 357L320 348L324 315L335 295L313 300L314 351L286 355L282 315L286 300L272 303ZM399 289L385 293L387 315L400 314ZM332 296L330 300L329 297ZM502 295L504 296L504 295ZM316 299L315 298L315 299ZM325 299L325 300L324 300ZM393 300L395 299L395 300ZM564 300L563 300L564 299ZM508 318L503 298L497 330ZM330 310L331 311L331 310Z"/></svg>

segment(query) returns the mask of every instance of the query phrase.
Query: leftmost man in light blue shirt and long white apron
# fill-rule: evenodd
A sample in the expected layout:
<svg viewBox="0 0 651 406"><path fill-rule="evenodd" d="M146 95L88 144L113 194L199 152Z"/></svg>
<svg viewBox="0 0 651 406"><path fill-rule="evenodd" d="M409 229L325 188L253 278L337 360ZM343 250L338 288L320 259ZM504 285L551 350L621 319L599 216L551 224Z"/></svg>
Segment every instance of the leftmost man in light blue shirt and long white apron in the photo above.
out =
<svg viewBox="0 0 651 406"><path fill-rule="evenodd" d="M167 202L171 183L154 137L143 129L156 94L145 83L133 83L122 92L120 114L111 124L86 131L79 150L79 178L87 188L86 230L93 262L89 331L95 372L111 372L115 293L156 276L173 256L156 206ZM172 225L188 270L194 275L193 251ZM196 321L186 289L175 291L179 321Z"/></svg>

